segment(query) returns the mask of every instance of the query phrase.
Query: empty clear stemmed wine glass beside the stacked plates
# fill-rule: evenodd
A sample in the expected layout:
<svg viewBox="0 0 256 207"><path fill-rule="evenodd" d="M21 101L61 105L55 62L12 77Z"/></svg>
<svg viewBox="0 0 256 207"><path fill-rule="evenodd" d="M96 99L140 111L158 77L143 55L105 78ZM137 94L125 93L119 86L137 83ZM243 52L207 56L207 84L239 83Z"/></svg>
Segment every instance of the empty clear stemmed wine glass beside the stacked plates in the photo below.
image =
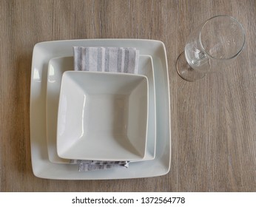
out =
<svg viewBox="0 0 256 207"><path fill-rule="evenodd" d="M197 81L206 73L228 66L245 44L242 25L231 16L214 16L189 35L185 51L178 56L176 69L186 81Z"/></svg>

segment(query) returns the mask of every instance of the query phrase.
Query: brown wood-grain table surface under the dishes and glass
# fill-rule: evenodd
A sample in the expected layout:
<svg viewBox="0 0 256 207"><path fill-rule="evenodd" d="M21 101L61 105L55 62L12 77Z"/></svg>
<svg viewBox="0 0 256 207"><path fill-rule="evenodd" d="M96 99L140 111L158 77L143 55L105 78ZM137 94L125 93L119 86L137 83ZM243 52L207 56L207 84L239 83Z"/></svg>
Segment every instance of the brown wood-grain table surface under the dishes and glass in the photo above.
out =
<svg viewBox="0 0 256 207"><path fill-rule="evenodd" d="M0 191L256 191L256 1L0 0ZM226 14L246 47L222 73L187 82L175 70L186 37ZM172 160L161 177L46 180L30 155L33 46L78 38L144 38L166 46Z"/></svg>

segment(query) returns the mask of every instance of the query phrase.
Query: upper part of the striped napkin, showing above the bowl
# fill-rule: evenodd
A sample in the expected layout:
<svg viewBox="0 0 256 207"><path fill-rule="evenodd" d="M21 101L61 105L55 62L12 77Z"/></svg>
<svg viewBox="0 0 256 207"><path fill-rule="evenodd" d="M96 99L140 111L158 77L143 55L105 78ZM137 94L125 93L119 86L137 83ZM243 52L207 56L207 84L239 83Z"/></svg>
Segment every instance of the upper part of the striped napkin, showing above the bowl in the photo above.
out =
<svg viewBox="0 0 256 207"><path fill-rule="evenodd" d="M74 47L78 71L138 73L139 51L130 47Z"/></svg>

